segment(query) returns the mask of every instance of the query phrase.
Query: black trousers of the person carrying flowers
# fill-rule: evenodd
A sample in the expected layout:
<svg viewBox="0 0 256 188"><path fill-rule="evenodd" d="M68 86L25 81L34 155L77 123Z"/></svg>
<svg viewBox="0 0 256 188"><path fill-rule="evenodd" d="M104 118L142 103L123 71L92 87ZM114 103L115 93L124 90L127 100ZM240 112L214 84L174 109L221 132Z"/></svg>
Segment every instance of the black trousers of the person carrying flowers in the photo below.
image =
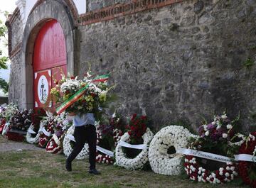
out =
<svg viewBox="0 0 256 188"><path fill-rule="evenodd" d="M89 145L89 162L90 170L92 170L95 168L96 160L97 135L95 126L86 125L75 127L75 147L68 156L68 161L72 162L78 156L86 141Z"/></svg>

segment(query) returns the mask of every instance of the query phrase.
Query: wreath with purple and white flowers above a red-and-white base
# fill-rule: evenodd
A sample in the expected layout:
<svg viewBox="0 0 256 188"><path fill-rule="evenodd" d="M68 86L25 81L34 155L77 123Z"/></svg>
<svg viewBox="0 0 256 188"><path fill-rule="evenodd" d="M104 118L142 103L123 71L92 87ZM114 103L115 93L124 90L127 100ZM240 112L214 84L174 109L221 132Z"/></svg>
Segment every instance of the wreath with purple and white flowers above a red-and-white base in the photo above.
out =
<svg viewBox="0 0 256 188"><path fill-rule="evenodd" d="M235 121L237 120L235 119ZM230 149L233 148L228 143L230 138L233 137L235 121L230 121L226 114L223 114L222 116L215 116L212 123L199 127L200 138L191 140L190 148L196 150L195 153L198 153L199 150L208 152L206 153L207 156L214 156L215 154L218 154L218 156L208 158L210 160L202 160L201 157L186 155L184 167L189 179L220 184L230 182L238 175L237 165L231 162L229 157L225 157L233 157L233 153L230 153ZM204 155L203 152L201 152L200 156ZM212 160L216 160L216 158L222 159L221 164L213 163ZM210 169L210 165L214 170Z"/></svg>

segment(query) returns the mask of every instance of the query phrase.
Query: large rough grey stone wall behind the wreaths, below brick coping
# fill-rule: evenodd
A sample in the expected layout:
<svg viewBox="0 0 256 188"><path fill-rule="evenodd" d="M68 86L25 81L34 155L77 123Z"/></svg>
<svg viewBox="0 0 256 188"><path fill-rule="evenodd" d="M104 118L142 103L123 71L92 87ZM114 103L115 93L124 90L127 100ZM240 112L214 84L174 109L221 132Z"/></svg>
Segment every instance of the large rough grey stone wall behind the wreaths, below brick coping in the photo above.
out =
<svg viewBox="0 0 256 188"><path fill-rule="evenodd" d="M146 114L156 128L195 128L226 110L241 111L246 129L256 110L255 66L244 65L256 59L255 16L254 0L183 1L80 26L78 74L89 62L111 72L119 111Z"/></svg>

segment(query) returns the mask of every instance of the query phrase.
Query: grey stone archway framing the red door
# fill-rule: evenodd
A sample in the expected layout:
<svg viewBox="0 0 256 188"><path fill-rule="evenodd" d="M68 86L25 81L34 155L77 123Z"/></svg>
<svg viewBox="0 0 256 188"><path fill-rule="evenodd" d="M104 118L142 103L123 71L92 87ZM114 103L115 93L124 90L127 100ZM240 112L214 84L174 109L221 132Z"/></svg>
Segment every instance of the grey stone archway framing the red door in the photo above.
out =
<svg viewBox="0 0 256 188"><path fill-rule="evenodd" d="M44 23L55 19L65 35L67 69L74 74L75 21L65 4L43 1L28 16L21 46L21 108L33 108L33 47L36 36Z"/></svg>

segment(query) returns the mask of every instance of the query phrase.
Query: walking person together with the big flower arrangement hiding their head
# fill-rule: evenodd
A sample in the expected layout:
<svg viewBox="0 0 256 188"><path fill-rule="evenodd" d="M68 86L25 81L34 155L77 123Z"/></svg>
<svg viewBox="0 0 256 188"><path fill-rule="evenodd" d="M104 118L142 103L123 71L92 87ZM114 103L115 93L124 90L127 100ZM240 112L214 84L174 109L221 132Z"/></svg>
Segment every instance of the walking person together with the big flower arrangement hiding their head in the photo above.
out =
<svg viewBox="0 0 256 188"><path fill-rule="evenodd" d="M102 114L99 106L103 106L107 101L108 77L106 74L92 78L90 72L87 72L85 77L79 80L78 77L65 77L63 74L62 79L55 83L56 86L51 89L50 94L55 99L56 104L61 104L56 109L57 114L66 111L70 116L74 116L75 148L65 163L68 171L72 171L71 162L80 153L87 140L89 145L89 173L100 174L95 168L97 133L94 125L95 119L99 121Z"/></svg>

